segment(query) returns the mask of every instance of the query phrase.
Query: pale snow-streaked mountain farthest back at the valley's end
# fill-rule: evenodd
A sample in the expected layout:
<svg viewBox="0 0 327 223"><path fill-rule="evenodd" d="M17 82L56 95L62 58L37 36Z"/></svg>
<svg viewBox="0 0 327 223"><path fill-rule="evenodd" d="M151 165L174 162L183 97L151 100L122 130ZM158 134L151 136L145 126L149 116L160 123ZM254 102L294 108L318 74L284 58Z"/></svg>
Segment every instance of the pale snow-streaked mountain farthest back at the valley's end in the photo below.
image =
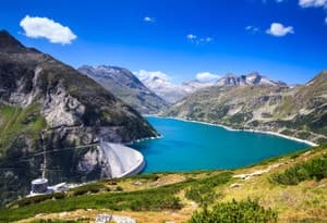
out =
<svg viewBox="0 0 327 223"><path fill-rule="evenodd" d="M165 76L156 74L140 76L140 79L146 87L170 103L175 103L197 89L211 85L210 83L202 83L199 80L190 80L182 83L181 85L177 85L172 84Z"/></svg>

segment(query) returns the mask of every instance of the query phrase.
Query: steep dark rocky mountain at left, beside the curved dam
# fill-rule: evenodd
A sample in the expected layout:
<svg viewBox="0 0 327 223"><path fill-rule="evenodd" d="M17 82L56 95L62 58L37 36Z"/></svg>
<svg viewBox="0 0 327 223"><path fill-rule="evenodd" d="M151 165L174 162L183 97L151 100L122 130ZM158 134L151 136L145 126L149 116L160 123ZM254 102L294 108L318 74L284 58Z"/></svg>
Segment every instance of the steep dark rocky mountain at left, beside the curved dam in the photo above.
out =
<svg viewBox="0 0 327 223"><path fill-rule="evenodd" d="M99 84L0 32L2 203L28 193L45 159L50 184L99 178L106 176L99 140L152 136L156 131Z"/></svg>

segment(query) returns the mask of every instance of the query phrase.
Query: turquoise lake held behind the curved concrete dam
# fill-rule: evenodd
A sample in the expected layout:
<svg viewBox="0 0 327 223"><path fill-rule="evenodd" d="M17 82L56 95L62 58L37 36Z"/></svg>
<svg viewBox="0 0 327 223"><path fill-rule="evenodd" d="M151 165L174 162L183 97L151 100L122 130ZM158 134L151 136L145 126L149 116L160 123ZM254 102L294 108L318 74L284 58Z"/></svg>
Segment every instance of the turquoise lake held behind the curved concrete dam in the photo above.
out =
<svg viewBox="0 0 327 223"><path fill-rule="evenodd" d="M233 169L308 148L303 143L165 117L146 117L164 137L131 145L146 160L144 173Z"/></svg>

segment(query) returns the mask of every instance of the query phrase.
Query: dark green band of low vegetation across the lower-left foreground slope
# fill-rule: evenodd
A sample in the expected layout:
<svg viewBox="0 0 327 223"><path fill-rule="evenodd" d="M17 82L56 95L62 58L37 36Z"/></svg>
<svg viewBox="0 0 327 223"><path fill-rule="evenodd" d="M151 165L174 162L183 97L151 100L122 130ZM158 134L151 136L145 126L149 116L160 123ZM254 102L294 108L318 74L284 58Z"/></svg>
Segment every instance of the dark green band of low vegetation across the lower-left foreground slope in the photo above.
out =
<svg viewBox="0 0 327 223"><path fill-rule="evenodd" d="M161 211L178 210L182 208L177 194L184 188L196 185L226 184L231 179L230 172L223 172L203 179L189 179L158 188L136 191L100 193L95 195L80 195L64 199L43 200L21 208L0 209L0 222L12 222L34 216L37 213L52 213L72 211L76 209L110 209L132 211ZM84 186L83 186L84 187ZM77 188L76 188L77 189Z"/></svg>

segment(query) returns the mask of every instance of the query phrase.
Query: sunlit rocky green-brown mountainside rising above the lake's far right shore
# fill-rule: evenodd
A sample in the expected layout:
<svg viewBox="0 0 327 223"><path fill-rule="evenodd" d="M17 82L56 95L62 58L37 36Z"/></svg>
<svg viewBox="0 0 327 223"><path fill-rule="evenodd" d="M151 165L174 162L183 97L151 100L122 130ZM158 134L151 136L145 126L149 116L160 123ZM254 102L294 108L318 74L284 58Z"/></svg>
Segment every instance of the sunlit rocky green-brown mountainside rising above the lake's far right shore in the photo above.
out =
<svg viewBox="0 0 327 223"><path fill-rule="evenodd" d="M269 84L263 78L226 82L195 91L164 113L233 128L270 131L327 143L327 72L303 86ZM232 79L232 78L225 78ZM256 78L250 78L252 83ZM221 82L220 82L221 83ZM243 83L243 84L242 84Z"/></svg>

